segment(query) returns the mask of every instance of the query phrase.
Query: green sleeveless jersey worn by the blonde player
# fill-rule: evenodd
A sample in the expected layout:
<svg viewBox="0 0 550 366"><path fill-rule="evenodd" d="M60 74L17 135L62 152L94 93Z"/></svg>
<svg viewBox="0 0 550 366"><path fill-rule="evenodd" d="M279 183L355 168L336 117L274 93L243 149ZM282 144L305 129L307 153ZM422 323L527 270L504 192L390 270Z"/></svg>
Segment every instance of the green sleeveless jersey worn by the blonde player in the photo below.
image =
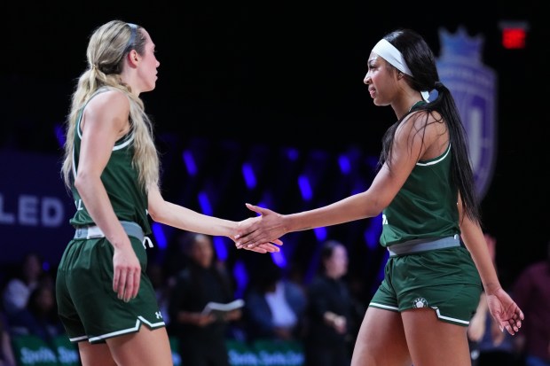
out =
<svg viewBox="0 0 550 366"><path fill-rule="evenodd" d="M104 91L106 89L98 90L90 99ZM90 102L90 99L88 99L88 102ZM78 170L78 159L82 142L80 124L85 106L80 110L76 119L73 176L76 176ZM138 223L141 229L144 230L145 235L149 235L151 234L151 226L147 218L147 195L139 184L138 169L132 165L132 158L134 156L133 140L134 136L130 131L130 133L116 141L113 152L111 152L111 157L101 174L101 182L105 186L116 217L120 221ZM73 199L75 199L76 213L69 222L75 227L95 225L74 183L71 186L71 191L73 192Z"/></svg>

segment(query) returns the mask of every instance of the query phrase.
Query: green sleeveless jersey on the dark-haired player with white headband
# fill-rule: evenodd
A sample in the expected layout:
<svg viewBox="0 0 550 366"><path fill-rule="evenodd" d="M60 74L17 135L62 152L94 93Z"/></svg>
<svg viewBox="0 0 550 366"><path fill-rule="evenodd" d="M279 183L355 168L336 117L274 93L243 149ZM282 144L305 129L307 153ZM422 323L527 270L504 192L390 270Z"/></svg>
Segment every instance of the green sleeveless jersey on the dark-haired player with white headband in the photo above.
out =
<svg viewBox="0 0 550 366"><path fill-rule="evenodd" d="M396 198L382 211L382 246L460 234L451 160L449 144L442 155L416 163Z"/></svg>

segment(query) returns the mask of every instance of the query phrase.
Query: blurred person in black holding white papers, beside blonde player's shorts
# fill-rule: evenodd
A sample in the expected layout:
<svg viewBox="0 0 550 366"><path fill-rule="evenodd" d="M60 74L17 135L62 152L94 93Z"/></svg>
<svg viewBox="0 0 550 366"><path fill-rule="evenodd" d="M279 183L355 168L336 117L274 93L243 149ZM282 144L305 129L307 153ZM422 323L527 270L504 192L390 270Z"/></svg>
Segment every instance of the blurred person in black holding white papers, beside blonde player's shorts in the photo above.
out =
<svg viewBox="0 0 550 366"><path fill-rule="evenodd" d="M182 234L187 256L169 300L169 333L179 339L182 363L190 366L229 366L225 344L229 325L240 319L241 309L223 315L205 314L210 301L234 299L232 277L216 259L212 238L193 232Z"/></svg>

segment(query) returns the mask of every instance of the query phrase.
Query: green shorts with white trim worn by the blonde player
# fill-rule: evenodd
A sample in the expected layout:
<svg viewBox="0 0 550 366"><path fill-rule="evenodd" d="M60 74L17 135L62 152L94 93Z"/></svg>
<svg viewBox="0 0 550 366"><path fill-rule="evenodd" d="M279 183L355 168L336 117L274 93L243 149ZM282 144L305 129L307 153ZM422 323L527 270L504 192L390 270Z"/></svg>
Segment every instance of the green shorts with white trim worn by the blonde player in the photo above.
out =
<svg viewBox="0 0 550 366"><path fill-rule="evenodd" d="M130 242L141 264L136 299L119 300L113 291L114 248L106 238L73 239L67 245L56 278L58 311L72 342L106 339L166 326L153 285L145 274L147 253L138 238Z"/></svg>

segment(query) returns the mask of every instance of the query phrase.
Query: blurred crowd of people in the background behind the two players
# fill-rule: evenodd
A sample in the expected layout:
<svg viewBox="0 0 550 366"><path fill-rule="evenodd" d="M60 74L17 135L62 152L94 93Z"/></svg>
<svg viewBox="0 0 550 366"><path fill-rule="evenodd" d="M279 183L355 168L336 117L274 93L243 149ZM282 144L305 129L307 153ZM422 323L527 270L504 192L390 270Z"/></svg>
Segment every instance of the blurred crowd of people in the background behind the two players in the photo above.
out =
<svg viewBox="0 0 550 366"><path fill-rule="evenodd" d="M496 258L496 238L486 235ZM303 269L286 270L270 254L255 257L243 291L234 271L216 255L213 238L182 231L162 260L147 267L167 323L178 340L175 350L183 364L224 365L227 340L295 340L303 345L306 366L347 366L355 335L368 305L355 292L348 274L345 243L326 240L319 245L318 268L306 279ZM468 338L474 366L550 365L550 242L547 257L532 263L515 280L512 293L523 308L522 331L509 336L492 322L480 299ZM12 339L32 334L45 342L64 336L59 323L55 268L44 267L36 253L12 270L3 271L0 308L0 366L17 365ZM244 300L242 307L205 312L208 302Z"/></svg>

